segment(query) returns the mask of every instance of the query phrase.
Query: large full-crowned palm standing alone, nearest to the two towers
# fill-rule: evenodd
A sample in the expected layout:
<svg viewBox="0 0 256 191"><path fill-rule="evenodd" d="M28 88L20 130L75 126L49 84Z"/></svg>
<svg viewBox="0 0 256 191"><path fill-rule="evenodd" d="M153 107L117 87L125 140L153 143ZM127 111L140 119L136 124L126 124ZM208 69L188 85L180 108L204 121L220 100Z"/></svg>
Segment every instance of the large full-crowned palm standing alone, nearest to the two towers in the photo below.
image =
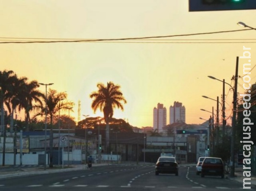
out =
<svg viewBox="0 0 256 191"><path fill-rule="evenodd" d="M121 102L126 104L127 101L120 91L120 85L108 82L107 85L98 83L97 87L98 90L90 95L90 97L93 98L92 108L94 113L97 109L100 109L104 114L106 123L106 151L109 152L109 120L113 117L114 109L116 107L124 110Z"/></svg>

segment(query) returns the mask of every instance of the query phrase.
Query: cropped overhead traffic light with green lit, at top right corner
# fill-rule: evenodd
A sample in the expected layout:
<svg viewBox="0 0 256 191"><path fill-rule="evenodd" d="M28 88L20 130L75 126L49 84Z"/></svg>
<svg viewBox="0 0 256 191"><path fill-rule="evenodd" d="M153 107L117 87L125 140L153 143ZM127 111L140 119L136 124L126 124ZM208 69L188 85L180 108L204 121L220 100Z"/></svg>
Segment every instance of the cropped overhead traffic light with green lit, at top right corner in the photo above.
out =
<svg viewBox="0 0 256 191"><path fill-rule="evenodd" d="M256 9L256 0L189 0L189 12L252 9Z"/></svg>

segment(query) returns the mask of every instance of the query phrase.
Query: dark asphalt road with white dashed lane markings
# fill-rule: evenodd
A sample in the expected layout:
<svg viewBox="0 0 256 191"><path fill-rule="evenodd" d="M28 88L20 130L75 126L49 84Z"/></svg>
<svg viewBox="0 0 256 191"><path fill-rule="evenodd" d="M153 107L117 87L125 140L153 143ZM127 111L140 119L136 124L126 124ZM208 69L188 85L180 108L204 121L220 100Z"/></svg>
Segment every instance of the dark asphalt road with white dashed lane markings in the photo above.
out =
<svg viewBox="0 0 256 191"><path fill-rule="evenodd" d="M179 176L155 176L154 165L130 164L0 180L1 191L241 191L242 187L220 177L201 178L195 167L180 166Z"/></svg>

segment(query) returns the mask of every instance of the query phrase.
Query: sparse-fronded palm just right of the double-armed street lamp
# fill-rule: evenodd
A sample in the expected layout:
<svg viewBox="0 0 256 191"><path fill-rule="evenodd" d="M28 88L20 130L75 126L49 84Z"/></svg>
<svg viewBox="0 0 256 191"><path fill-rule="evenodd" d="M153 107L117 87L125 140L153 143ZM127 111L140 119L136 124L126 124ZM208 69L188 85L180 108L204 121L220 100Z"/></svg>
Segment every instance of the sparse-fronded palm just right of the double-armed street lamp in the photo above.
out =
<svg viewBox="0 0 256 191"><path fill-rule="evenodd" d="M53 117L58 114L60 110L70 110L72 111L72 107L74 105L73 102L67 101L67 93L66 92L57 92L56 90L49 89L47 92L47 115L50 117L50 164L49 167L53 167ZM45 107L44 106L36 106L38 109L38 114L36 116L44 116L45 115Z"/></svg>

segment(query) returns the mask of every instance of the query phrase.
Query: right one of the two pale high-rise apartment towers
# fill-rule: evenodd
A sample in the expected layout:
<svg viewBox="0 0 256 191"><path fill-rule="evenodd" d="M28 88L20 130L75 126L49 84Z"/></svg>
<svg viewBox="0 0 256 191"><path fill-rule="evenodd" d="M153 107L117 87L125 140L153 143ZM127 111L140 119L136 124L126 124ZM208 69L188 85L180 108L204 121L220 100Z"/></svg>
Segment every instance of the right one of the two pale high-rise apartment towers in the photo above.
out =
<svg viewBox="0 0 256 191"><path fill-rule="evenodd" d="M174 106L170 106L170 124L175 122L186 122L185 106L179 102L174 102Z"/></svg>

